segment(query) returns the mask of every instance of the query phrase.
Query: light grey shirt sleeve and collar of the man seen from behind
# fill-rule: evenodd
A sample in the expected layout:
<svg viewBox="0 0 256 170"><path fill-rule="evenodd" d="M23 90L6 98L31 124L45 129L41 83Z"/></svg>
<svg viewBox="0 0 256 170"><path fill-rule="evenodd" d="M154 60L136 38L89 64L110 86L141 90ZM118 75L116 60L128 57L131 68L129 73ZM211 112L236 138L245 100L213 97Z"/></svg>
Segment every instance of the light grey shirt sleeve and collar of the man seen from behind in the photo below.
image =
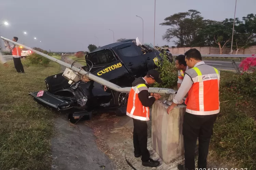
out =
<svg viewBox="0 0 256 170"><path fill-rule="evenodd" d="M195 64L194 67L201 64L205 64L205 63L203 61L198 62L197 64ZM187 74L185 74L184 79L181 83L181 87L179 88L177 94L173 98L173 103L180 104L181 100L186 96L186 94L188 93L192 85L193 85L193 81Z"/></svg>

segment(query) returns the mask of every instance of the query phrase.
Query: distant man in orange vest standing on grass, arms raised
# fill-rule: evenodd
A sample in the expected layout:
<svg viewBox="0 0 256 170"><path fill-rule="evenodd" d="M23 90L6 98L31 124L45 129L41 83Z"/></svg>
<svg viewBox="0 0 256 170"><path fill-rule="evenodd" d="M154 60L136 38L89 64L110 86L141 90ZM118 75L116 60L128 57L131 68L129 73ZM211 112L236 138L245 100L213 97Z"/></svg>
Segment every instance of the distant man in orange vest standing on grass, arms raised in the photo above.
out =
<svg viewBox="0 0 256 170"><path fill-rule="evenodd" d="M18 37L13 37L12 39L14 42L17 42L18 41ZM20 60L20 57L21 57L21 52L20 52L20 48L19 46L13 44L11 47L8 43L8 48L10 50L12 50L12 55L13 55L13 62L14 62L14 67L15 69L17 70L18 73L25 73L24 72L24 68L23 68L23 65L22 65L22 62Z"/></svg>

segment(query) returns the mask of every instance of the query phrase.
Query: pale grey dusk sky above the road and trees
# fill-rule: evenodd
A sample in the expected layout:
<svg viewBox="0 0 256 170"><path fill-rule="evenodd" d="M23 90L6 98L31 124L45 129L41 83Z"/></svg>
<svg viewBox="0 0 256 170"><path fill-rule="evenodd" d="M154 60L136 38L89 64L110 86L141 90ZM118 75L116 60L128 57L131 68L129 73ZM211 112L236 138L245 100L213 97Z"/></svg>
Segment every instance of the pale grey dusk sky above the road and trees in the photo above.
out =
<svg viewBox="0 0 256 170"><path fill-rule="evenodd" d="M235 2L156 0L155 45L173 46L162 40L169 27L159 24L166 17L193 9L204 19L220 21L234 17ZM0 0L0 24L9 23L0 27L0 34L8 39L17 36L19 43L29 47L61 52L88 51L89 44L111 44L113 32L109 29L114 31L115 41L138 37L153 44L154 5L154 0ZM256 0L237 0L236 17L242 19L250 13L256 14ZM142 19L136 15L144 20L144 38Z"/></svg>

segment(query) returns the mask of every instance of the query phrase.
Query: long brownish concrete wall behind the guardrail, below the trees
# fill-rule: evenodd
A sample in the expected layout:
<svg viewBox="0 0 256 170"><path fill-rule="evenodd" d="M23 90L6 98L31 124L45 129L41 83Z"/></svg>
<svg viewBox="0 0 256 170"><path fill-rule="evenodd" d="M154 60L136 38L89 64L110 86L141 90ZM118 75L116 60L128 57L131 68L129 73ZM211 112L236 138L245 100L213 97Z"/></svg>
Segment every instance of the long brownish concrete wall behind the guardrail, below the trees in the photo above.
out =
<svg viewBox="0 0 256 170"><path fill-rule="evenodd" d="M172 54L184 54L191 48L196 48L201 52L201 54L219 54L219 48L216 47L181 47L181 48L169 48L170 53ZM230 48L225 48L223 54L229 54ZM236 51L233 50L232 54L236 54ZM256 46L251 46L246 49L240 49L237 54L256 54Z"/></svg>

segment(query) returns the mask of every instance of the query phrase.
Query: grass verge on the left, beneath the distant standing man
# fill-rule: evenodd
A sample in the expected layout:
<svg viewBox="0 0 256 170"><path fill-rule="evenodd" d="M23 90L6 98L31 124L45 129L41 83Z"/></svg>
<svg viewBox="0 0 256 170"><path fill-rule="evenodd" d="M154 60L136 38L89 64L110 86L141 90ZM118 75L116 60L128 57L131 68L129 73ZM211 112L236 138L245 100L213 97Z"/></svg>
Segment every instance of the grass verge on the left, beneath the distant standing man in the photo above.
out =
<svg viewBox="0 0 256 170"><path fill-rule="evenodd" d="M0 64L0 169L51 169L54 113L37 104L29 92L45 90L44 79L60 72L60 65L26 67L16 73L13 62Z"/></svg>

